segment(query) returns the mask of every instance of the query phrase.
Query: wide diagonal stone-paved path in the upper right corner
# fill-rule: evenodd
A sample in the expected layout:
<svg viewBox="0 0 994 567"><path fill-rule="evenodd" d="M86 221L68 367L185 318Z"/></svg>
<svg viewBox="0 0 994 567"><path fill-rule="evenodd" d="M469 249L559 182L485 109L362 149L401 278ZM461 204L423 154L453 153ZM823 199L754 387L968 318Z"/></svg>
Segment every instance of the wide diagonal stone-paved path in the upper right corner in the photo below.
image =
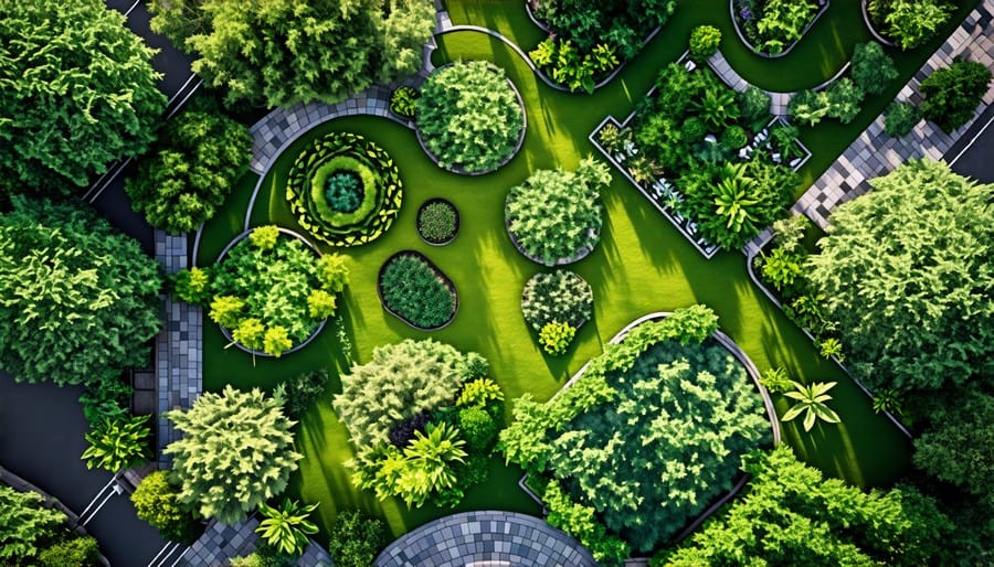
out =
<svg viewBox="0 0 994 567"><path fill-rule="evenodd" d="M994 68L992 18L994 18L994 0L984 0L984 3L966 17L963 24L914 74L901 89L898 99L920 103L921 81L937 68L949 66L955 57L976 61L987 68ZM987 90L974 118L991 104L994 104L994 88ZM889 173L908 159L922 157L941 159L972 122L973 120L948 135L934 124L923 120L908 136L895 139L884 132L884 115L880 115L812 184L794 204L792 212L805 214L815 224L825 228L828 225L828 215L836 206L869 191L866 180Z"/></svg>

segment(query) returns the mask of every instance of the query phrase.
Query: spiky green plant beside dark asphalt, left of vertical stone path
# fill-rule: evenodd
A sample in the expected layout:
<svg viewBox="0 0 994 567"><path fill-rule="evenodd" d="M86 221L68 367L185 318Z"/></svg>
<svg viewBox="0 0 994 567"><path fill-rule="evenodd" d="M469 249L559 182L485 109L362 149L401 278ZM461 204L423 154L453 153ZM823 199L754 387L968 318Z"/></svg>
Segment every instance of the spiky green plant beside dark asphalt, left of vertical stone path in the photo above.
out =
<svg viewBox="0 0 994 567"><path fill-rule="evenodd" d="M105 418L102 424L85 435L89 447L83 451L86 468L98 467L117 472L144 463L148 459L148 436L145 422L148 416Z"/></svg>

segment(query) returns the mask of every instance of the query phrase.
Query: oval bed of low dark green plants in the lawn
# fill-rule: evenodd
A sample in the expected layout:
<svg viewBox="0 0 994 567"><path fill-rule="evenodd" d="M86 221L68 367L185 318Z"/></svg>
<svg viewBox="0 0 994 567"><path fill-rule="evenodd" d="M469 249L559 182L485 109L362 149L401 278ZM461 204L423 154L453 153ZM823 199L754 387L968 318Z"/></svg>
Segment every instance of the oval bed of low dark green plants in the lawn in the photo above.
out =
<svg viewBox="0 0 994 567"><path fill-rule="evenodd" d="M409 325L425 331L442 329L455 319L458 296L452 280L424 255L394 254L377 279L383 308Z"/></svg>

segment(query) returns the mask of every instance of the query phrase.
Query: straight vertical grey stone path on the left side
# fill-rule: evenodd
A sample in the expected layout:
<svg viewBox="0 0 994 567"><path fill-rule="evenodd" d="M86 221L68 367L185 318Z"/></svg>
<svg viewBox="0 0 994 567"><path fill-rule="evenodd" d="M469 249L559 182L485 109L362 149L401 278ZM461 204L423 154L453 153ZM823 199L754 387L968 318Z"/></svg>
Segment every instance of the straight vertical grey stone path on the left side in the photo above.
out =
<svg viewBox="0 0 994 567"><path fill-rule="evenodd" d="M156 231L156 258L166 274L187 266L187 235L173 236ZM162 413L173 408L189 409L203 389L203 315L200 306L163 296L165 325L156 338L156 379L158 383L158 459L169 459L162 449L178 434Z"/></svg>

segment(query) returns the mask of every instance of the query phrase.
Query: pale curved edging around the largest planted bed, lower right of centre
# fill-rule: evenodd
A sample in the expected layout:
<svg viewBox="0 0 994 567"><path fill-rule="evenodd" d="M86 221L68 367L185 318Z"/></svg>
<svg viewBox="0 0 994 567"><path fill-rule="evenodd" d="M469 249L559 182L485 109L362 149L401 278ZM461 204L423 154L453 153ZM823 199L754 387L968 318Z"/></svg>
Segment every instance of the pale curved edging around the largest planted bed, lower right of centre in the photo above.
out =
<svg viewBox="0 0 994 567"><path fill-rule="evenodd" d="M622 328L621 331L615 333L615 335L612 336L611 340L607 341L607 344L617 344L617 343L622 342L625 339L625 336L627 336L627 334L636 327L638 327L643 323L646 323L646 322L652 322L652 321L657 321L657 320L662 321L672 314L673 314L673 311L656 311L654 313L648 313L648 314L642 315L638 319L626 324L624 328ZM736 360L739 361L739 363L745 368L745 373L749 374L749 377L752 378L752 382L753 382L753 384L755 384L755 387L759 392L760 397L763 399L763 406L766 410L766 417L770 419L770 428L773 431L773 447L776 447L782 441L781 435L780 435L780 418L776 417L776 409L773 407L773 399L770 397L770 393L766 391L765 386L763 386L762 382L760 382L759 368L755 367L755 364L752 362L752 360L749 357L749 355L747 355L745 352L742 351L742 349L734 341L731 340L731 338L729 338L727 334L721 332L720 328L716 329L715 332L709 335L709 338L715 339L718 342L718 344L720 344L732 356L734 356ZM577 381L579 381L586 373L586 368L590 366L590 363L592 360L593 359L586 361L583 364L583 366L581 366L580 370L577 371L577 373L573 374L570 377L570 379L567 381L567 383L563 384L562 387L560 387L556 392L556 394L552 395L551 398L549 398L550 402L552 399L556 399L567 388L569 388ZM690 536L698 527L700 527L700 525L705 521L707 521L715 512L717 512L718 509L723 506L729 500L733 499L742 490L742 488L745 486L745 483L749 482L749 478L750 478L749 474L742 473L741 478L738 480L738 482L736 482L736 484L732 485L732 488L728 492L726 492L720 499L715 501L710 506L708 506L704 512L701 512L700 515L696 520L694 520L694 522L690 522L687 525L687 527L685 527L679 534L677 534L677 536L673 539L673 543L679 543L680 541ZM518 486L520 486L525 491L526 494L531 496L532 500L535 500L540 506L542 506L542 516L548 516L549 512L546 509L546 503L540 498L538 498L538 495L531 489L528 488L528 485L526 484L527 479L528 479L527 474L522 475L518 480ZM648 561L648 557L630 557L628 560L636 560L636 561L644 563L644 561Z"/></svg>

